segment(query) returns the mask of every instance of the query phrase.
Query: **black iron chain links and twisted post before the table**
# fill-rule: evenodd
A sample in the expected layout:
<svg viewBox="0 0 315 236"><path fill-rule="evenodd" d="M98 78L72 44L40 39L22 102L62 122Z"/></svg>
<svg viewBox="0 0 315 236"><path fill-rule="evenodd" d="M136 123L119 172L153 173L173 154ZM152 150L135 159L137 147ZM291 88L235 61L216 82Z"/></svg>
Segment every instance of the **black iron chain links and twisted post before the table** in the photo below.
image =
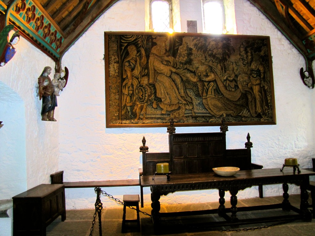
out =
<svg viewBox="0 0 315 236"><path fill-rule="evenodd" d="M95 192L96 192L96 189L97 189L97 188L95 188ZM107 196L108 198L113 199L114 201L119 202L119 203L122 204L122 205L126 205L124 202L122 202L122 201L119 200L118 198L114 198L111 194L106 193L105 191L101 190L100 188L99 188L99 190L100 190L100 193L102 193L104 196ZM98 199L100 199L100 198L98 197L96 200L98 200ZM95 218L96 218L96 212L97 212L96 203L97 203L97 202L95 202L94 219L93 219L93 222L92 222L91 233L90 233L89 236L92 236L93 227L94 227L94 224L95 224ZM128 205L126 205L126 206L128 206ZM128 206L128 207L129 207L130 209L137 210L136 208L134 208L134 207L132 207L132 206ZM103 207L101 207L101 208L103 208ZM101 209L100 209L100 210L101 210ZM144 215L146 215L146 216L153 217L151 214L148 214L148 213L146 213L146 212L144 212L144 211L139 210L139 212L141 212L142 214L144 214ZM169 221L169 220L165 220L165 219L162 219L162 218L158 218L158 219L159 219L159 220L162 220L162 221L164 221L164 222L167 222L167 223L172 223L172 224L181 225L181 226L183 226L183 227L201 229L200 227L197 227L197 226L187 226L187 225L182 224L182 223L178 223L178 222L174 222L174 221ZM210 231L219 231L219 232L223 232L223 231L225 231L225 232L231 232L231 231L239 232L239 231L249 231L249 230L252 230L252 231L253 231L253 230L257 230L257 229L264 229L264 228L269 228L269 227L273 227L273 226L277 226L277 225L283 225L283 224L287 224L287 223L290 223L290 222L293 222L293 221L295 221L295 220L288 220L288 221L283 221L283 222L274 223L274 224L271 224L271 225L258 226L258 227L255 227L255 228L252 227L252 228L243 228L243 229L240 229L240 228L238 228L238 229L212 229L212 230L210 230ZM100 227L101 227L101 222L99 222L99 225L100 225ZM209 230L209 228L204 228L204 229ZM100 231L101 231L101 228L100 228ZM101 235L101 232L100 232L100 235Z"/></svg>

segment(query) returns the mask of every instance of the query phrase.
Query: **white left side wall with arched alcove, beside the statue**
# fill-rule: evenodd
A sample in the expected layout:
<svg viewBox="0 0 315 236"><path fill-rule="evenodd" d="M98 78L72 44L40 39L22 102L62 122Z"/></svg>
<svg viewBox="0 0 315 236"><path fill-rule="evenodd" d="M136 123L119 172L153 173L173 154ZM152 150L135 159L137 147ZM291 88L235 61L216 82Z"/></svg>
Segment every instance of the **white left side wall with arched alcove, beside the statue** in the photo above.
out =
<svg viewBox="0 0 315 236"><path fill-rule="evenodd" d="M12 198L41 183L58 170L58 122L41 121L37 78L54 62L21 37L14 58L0 67L1 199ZM58 108L56 109L58 110ZM58 112L56 112L58 120Z"/></svg>

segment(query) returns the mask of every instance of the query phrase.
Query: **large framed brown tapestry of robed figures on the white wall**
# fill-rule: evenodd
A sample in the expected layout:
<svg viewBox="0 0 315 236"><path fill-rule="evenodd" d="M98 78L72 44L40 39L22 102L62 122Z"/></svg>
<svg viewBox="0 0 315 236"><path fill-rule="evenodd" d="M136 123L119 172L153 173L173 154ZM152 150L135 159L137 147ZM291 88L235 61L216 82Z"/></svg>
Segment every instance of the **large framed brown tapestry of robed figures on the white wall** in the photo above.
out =
<svg viewBox="0 0 315 236"><path fill-rule="evenodd" d="M107 128L276 124L269 37L104 37Z"/></svg>

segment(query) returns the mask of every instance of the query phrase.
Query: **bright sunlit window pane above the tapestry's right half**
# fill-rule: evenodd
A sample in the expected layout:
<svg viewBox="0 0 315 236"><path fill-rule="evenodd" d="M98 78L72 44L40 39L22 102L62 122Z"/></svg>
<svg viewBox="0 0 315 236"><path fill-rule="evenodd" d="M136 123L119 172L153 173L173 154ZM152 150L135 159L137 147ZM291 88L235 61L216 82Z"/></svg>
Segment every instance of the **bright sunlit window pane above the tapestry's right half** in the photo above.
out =
<svg viewBox="0 0 315 236"><path fill-rule="evenodd" d="M222 34L223 11L220 3L208 2L203 5L205 32L209 34Z"/></svg>

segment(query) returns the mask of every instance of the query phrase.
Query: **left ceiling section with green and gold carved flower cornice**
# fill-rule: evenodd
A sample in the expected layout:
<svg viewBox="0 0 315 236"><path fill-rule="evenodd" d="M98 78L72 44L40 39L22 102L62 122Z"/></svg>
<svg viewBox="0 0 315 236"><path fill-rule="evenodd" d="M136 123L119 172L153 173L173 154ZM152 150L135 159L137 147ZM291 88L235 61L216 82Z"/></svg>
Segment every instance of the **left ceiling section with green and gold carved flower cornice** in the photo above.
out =
<svg viewBox="0 0 315 236"><path fill-rule="evenodd" d="M118 0L0 0L0 31L12 24L55 62Z"/></svg>

